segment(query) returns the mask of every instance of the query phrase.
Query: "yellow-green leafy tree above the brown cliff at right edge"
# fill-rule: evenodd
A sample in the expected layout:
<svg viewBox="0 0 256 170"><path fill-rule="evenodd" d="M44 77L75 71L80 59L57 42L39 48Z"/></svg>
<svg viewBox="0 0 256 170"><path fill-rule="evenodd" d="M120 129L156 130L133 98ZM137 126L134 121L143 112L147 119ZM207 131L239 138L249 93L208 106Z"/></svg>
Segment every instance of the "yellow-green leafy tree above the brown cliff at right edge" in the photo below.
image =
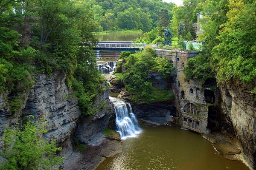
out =
<svg viewBox="0 0 256 170"><path fill-rule="evenodd" d="M256 1L230 0L219 44L212 49L212 68L219 81L256 79ZM246 37L246 38L245 38Z"/></svg>

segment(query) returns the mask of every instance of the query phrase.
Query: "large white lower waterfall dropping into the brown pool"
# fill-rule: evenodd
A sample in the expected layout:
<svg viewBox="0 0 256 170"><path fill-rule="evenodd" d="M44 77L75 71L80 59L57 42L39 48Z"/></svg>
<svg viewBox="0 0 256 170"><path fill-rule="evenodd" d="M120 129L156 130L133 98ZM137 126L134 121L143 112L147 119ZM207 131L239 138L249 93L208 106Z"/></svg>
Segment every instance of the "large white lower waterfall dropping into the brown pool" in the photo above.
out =
<svg viewBox="0 0 256 170"><path fill-rule="evenodd" d="M121 139L136 137L141 132L141 128L134 113L132 113L131 105L120 101L114 102L114 105L117 132L120 133Z"/></svg>

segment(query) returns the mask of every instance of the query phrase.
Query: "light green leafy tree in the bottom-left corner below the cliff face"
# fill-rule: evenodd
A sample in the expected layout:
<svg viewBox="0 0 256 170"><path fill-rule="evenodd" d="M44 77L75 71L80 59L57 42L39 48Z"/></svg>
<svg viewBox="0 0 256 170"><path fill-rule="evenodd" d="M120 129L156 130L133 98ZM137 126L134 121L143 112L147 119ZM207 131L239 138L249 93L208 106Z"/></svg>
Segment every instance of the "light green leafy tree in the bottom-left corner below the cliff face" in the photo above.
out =
<svg viewBox="0 0 256 170"><path fill-rule="evenodd" d="M45 125L29 120L21 129L16 125L5 130L1 154L7 161L0 165L2 170L52 169L62 163L63 158L56 156L61 147L55 146L55 140L42 138L47 132Z"/></svg>

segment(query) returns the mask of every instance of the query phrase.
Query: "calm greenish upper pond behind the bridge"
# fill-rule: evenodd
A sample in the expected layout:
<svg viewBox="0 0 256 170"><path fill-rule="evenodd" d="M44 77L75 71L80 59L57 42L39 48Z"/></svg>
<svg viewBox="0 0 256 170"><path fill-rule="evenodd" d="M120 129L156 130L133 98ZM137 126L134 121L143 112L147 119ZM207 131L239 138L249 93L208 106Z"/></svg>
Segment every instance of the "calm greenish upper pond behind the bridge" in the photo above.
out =
<svg viewBox="0 0 256 170"><path fill-rule="evenodd" d="M99 41L135 41L142 37L144 32L113 32L104 34L95 34Z"/></svg>

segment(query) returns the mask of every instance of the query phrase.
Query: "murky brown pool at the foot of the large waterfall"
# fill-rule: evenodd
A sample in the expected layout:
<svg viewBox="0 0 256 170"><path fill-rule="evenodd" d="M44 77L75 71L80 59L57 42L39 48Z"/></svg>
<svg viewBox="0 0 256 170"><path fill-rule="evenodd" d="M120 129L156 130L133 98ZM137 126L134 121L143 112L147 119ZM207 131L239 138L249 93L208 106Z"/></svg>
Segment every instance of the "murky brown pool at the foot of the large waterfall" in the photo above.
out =
<svg viewBox="0 0 256 170"><path fill-rule="evenodd" d="M196 133L175 127L144 128L123 140L122 153L96 170L249 170L241 161L224 159Z"/></svg>

